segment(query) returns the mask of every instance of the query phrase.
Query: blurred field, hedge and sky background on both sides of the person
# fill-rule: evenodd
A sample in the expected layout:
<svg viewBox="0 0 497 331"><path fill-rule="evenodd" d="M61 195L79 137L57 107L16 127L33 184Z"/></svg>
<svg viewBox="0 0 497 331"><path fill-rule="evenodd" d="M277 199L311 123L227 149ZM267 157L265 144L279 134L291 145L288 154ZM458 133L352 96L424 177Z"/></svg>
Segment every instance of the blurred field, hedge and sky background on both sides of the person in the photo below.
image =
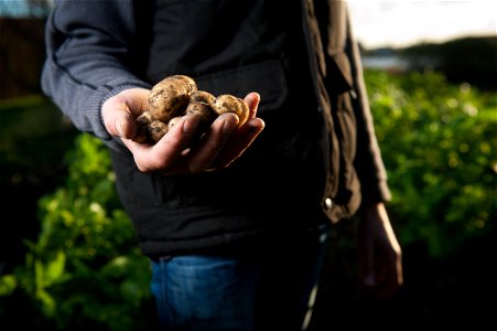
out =
<svg viewBox="0 0 497 331"><path fill-rule="evenodd" d="M497 1L348 2L406 284L372 300L356 220L337 224L310 329L495 325ZM51 6L0 0L0 329L150 330L148 261L107 151L40 90Z"/></svg>

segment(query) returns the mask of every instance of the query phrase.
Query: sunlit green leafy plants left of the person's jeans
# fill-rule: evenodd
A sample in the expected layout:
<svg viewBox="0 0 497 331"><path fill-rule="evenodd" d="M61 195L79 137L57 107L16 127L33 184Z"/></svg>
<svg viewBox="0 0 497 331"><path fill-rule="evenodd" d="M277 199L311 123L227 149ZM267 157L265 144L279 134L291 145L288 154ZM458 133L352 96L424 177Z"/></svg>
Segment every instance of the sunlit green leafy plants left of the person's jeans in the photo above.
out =
<svg viewBox="0 0 497 331"><path fill-rule="evenodd" d="M147 330L150 265L120 207L107 150L80 135L67 157L66 184L40 200L42 227L26 242L25 265L0 278L0 318L19 309L1 298L12 296L31 327Z"/></svg>

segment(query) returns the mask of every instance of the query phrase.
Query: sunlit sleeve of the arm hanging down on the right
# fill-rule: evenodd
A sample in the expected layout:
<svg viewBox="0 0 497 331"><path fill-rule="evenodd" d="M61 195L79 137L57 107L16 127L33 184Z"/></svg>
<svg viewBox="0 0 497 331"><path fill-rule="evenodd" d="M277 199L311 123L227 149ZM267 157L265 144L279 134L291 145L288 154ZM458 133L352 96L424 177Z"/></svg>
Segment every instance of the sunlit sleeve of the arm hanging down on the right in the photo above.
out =
<svg viewBox="0 0 497 331"><path fill-rule="evenodd" d="M387 171L375 132L359 47L353 34L348 15L346 52L352 66L353 107L357 120L357 150L354 164L360 180L363 205L365 203L386 202L391 199L387 184Z"/></svg>

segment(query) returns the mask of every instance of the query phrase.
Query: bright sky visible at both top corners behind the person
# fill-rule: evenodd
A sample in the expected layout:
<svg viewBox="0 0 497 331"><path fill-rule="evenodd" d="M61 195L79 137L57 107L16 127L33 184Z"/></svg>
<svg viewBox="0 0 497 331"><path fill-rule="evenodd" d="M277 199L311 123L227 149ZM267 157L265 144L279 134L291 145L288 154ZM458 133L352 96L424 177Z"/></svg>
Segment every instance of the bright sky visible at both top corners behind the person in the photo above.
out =
<svg viewBox="0 0 497 331"><path fill-rule="evenodd" d="M23 3L0 0L0 15L22 15ZM366 49L497 35L497 0L348 0L348 6Z"/></svg>

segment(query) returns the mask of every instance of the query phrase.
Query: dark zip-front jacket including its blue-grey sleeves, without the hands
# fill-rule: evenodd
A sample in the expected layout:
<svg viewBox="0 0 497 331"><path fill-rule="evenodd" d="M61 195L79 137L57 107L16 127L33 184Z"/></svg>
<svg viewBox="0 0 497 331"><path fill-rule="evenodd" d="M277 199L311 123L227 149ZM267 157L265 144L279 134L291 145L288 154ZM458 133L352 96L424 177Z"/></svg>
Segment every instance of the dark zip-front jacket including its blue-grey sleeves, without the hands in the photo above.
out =
<svg viewBox="0 0 497 331"><path fill-rule="evenodd" d="M118 191L144 254L299 233L323 215L337 222L361 201L389 199L345 6L56 2L42 86L76 127L110 147ZM214 94L261 94L267 127L228 169L141 173L105 130L99 111L108 97L172 74L190 75Z"/></svg>

